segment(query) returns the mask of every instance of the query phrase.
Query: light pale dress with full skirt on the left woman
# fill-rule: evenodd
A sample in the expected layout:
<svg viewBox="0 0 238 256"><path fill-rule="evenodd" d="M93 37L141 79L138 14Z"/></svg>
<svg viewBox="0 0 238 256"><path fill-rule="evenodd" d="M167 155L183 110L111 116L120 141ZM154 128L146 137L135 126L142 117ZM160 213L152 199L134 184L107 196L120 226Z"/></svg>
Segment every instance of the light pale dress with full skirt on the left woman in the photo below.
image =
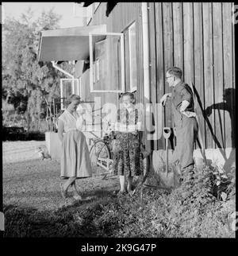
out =
<svg viewBox="0 0 238 256"><path fill-rule="evenodd" d="M75 111L65 110L59 116L64 123L62 153L60 159L61 178L86 178L92 176L90 154L82 128L82 117Z"/></svg>

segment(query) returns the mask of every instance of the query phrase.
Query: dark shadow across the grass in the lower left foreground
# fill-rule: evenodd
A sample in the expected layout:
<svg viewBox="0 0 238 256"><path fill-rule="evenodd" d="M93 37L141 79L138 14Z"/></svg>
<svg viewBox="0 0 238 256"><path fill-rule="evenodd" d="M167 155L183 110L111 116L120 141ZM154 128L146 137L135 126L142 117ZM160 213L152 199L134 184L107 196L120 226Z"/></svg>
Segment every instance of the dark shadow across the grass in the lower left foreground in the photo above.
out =
<svg viewBox="0 0 238 256"><path fill-rule="evenodd" d="M57 210L4 205L5 237L102 237L119 227L106 215L105 207L115 204L112 192L96 190L83 201L63 204ZM102 216L106 219L99 221ZM108 222L108 223L107 223Z"/></svg>

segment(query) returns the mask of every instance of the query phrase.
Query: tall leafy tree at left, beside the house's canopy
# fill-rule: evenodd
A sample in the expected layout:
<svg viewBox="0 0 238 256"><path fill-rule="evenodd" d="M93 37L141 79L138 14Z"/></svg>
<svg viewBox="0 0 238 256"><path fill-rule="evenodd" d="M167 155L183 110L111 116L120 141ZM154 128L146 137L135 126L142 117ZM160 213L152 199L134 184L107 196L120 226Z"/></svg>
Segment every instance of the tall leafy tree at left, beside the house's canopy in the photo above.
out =
<svg viewBox="0 0 238 256"><path fill-rule="evenodd" d="M17 114L42 118L46 111L44 97L50 100L52 95L59 95L59 78L63 75L50 62L37 61L40 31L57 29L59 19L49 10L33 20L29 9L19 20L7 18L2 25L2 92Z"/></svg>

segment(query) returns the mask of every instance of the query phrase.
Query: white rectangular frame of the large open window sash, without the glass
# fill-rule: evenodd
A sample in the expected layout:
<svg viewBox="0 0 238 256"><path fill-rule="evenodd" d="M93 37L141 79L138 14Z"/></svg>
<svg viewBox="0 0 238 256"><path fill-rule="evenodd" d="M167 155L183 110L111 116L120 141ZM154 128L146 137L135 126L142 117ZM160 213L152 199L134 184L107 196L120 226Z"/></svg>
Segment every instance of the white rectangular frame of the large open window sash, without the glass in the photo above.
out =
<svg viewBox="0 0 238 256"><path fill-rule="evenodd" d="M92 36L120 36L121 37L121 90L94 90L94 72L93 72L93 38ZM89 33L90 44L90 92L125 92L125 56L124 56L124 33Z"/></svg>

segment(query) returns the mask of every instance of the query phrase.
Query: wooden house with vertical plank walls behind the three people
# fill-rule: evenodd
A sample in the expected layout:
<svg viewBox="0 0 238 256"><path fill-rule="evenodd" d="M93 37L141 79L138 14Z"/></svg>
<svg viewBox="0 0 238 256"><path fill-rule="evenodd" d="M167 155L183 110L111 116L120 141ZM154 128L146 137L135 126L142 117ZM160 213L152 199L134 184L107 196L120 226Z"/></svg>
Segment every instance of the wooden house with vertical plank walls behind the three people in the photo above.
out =
<svg viewBox="0 0 238 256"><path fill-rule="evenodd" d="M232 2L116 2L113 6L108 2L94 2L90 5L90 17L84 26L85 31L86 28L98 28L95 30L98 33L95 38L98 39L94 41L91 37L91 42L96 45L91 48L91 56L90 47L83 45L80 37L82 28L78 32L77 28L75 31L59 29L63 36L56 33L59 38L48 41L48 44L55 44L52 60L77 60L73 76L79 80L78 91L86 101L94 101L95 97L100 97L102 105L119 104L120 92L132 91L137 103L144 105L145 112L153 113L149 115L148 122L155 129L145 129L142 135L149 150L163 149L165 142L162 128L174 126L171 103L167 103L163 109L155 105L164 93L170 91L165 82L165 72L171 66L182 68L183 80L193 87L196 99L201 131L201 143L197 143L196 147L235 148L236 89L232 6ZM85 5L83 8L89 6ZM92 29L86 33L90 34L89 31ZM42 33L40 60L50 60L42 57L43 53L48 56L49 51L48 45L44 45L48 39L46 33L52 37L54 31ZM117 52L115 45L112 48L104 47L111 59L105 58L103 62L100 54L105 56L106 53L102 53L102 48L100 50L102 41L110 36L113 38L113 33L117 37L117 44L123 38L123 42L120 41L123 51L121 52L121 45L119 48L117 45ZM60 40L62 44L67 44L67 48L58 44ZM80 45L80 42L81 48L77 48L76 45ZM89 39L86 41L88 43ZM105 46L106 42L103 44ZM63 56L57 56L63 52L67 54L67 51L71 52L71 56L64 59ZM117 66L107 60L117 61ZM109 73L107 77L112 80L100 83L100 74L105 70ZM114 84L113 79L117 83ZM96 87L102 91L97 91ZM148 103L152 103L152 109L146 107ZM148 139L147 135L155 133L155 130L159 130L157 137ZM171 148L174 143L175 139L171 139Z"/></svg>

